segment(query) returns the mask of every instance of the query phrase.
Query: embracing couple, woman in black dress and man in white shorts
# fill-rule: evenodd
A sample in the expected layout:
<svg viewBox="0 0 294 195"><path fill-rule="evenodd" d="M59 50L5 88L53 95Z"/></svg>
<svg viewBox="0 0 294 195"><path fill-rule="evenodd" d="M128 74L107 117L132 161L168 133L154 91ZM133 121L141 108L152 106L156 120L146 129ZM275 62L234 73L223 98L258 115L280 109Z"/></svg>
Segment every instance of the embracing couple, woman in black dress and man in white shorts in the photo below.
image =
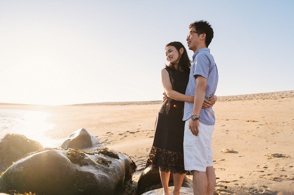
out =
<svg viewBox="0 0 294 195"><path fill-rule="evenodd" d="M187 43L194 52L189 60L182 43L166 45L169 62L161 71L164 101L156 118L153 145L146 167L159 169L163 195L169 194L173 174L173 195L180 193L185 174L193 173L194 195L213 195L216 175L213 169L211 136L215 116L212 106L218 84L218 70L208 45L213 29L207 21L190 24Z"/></svg>

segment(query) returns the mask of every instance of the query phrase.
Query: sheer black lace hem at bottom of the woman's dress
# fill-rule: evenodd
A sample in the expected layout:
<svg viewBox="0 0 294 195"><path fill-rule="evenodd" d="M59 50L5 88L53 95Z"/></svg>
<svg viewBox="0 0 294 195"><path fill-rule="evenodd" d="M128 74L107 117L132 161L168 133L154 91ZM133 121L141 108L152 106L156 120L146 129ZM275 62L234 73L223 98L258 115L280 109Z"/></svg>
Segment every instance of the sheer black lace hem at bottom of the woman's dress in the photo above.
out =
<svg viewBox="0 0 294 195"><path fill-rule="evenodd" d="M185 170L184 154L182 152L173 152L154 146L151 147L145 167L152 167L165 172L191 174L191 171Z"/></svg>

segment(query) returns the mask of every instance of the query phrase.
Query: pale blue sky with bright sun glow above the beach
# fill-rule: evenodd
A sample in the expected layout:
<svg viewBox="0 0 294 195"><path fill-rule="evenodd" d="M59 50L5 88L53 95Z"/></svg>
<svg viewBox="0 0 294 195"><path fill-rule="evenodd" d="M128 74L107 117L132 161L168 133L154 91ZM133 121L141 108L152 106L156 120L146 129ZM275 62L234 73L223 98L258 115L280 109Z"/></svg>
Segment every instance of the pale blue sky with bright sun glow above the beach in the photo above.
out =
<svg viewBox="0 0 294 195"><path fill-rule="evenodd" d="M165 44L188 49L188 26L200 19L214 30L217 96L294 90L293 9L293 1L0 0L0 102L160 100Z"/></svg>

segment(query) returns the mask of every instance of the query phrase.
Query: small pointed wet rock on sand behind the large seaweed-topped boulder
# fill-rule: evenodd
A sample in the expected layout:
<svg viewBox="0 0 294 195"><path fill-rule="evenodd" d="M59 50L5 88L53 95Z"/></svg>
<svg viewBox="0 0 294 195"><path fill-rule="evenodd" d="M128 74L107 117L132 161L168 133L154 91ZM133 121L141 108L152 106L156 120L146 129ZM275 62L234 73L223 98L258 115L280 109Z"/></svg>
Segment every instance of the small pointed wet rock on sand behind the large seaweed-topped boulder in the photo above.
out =
<svg viewBox="0 0 294 195"><path fill-rule="evenodd" d="M89 133L86 129L81 128L76 130L74 133L71 133L64 143L61 145L62 148L74 148L77 147L79 149L86 147L95 147L98 143L98 140Z"/></svg>

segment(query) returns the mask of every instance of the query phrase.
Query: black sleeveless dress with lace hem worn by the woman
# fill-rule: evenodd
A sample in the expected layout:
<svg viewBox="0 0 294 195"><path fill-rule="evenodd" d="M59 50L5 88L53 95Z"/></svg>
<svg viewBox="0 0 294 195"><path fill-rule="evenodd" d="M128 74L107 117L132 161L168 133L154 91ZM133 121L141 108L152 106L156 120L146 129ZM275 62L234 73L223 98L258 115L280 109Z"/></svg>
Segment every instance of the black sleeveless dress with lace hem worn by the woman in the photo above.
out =
<svg viewBox="0 0 294 195"><path fill-rule="evenodd" d="M171 67L168 71L173 90L185 94L190 72L181 72ZM165 172L186 173L184 166L184 102L167 98L158 112L154 141L145 167Z"/></svg>

